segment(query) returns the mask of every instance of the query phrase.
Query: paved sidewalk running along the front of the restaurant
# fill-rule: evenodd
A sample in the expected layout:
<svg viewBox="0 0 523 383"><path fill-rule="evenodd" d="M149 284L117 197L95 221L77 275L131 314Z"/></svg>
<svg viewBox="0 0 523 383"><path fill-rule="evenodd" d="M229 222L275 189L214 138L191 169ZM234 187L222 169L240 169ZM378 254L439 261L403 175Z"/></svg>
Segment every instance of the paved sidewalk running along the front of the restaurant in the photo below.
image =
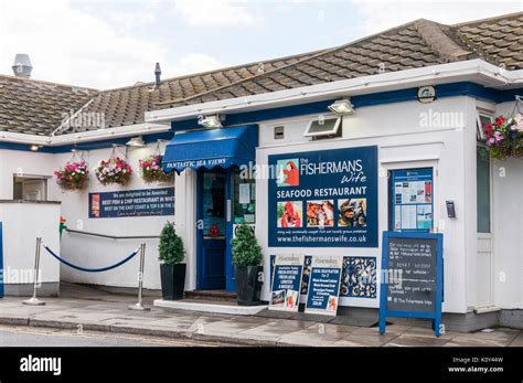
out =
<svg viewBox="0 0 523 383"><path fill-rule="evenodd" d="M429 329L392 325L381 336L377 328L262 316L210 315L154 307L151 311L132 311L127 307L136 302L135 297L73 285L62 287L61 298L45 298L45 306L24 306L24 299L26 298L0 299L1 325L63 329L82 326L84 330L242 345L523 347L523 332L506 328L497 328L492 332L447 332L436 338ZM146 304L151 306L152 299L146 299Z"/></svg>

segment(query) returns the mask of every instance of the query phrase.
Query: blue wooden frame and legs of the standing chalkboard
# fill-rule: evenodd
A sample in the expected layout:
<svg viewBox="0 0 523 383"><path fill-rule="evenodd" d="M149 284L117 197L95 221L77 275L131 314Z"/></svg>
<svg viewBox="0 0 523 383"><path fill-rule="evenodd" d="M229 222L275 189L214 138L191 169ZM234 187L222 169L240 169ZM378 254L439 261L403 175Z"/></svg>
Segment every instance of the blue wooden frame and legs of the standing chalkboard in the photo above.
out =
<svg viewBox="0 0 523 383"><path fill-rule="evenodd" d="M393 311L387 309L388 244L389 238L413 238L436 241L436 292L434 312ZM380 333L385 333L386 317L433 319L436 337L441 336L441 304L444 281L444 236L441 233L383 232L382 280L380 283Z"/></svg>

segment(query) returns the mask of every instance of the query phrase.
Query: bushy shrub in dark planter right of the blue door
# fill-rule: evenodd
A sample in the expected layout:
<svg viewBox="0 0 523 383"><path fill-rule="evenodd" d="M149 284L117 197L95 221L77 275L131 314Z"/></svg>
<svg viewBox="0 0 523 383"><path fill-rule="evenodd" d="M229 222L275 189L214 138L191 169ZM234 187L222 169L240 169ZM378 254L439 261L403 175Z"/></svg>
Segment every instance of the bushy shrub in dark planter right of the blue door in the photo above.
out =
<svg viewBox="0 0 523 383"><path fill-rule="evenodd" d="M263 259L262 247L254 235L253 227L241 224L236 227L233 238L233 264L236 269L236 294L241 306L252 306L259 302L262 283L258 274Z"/></svg>

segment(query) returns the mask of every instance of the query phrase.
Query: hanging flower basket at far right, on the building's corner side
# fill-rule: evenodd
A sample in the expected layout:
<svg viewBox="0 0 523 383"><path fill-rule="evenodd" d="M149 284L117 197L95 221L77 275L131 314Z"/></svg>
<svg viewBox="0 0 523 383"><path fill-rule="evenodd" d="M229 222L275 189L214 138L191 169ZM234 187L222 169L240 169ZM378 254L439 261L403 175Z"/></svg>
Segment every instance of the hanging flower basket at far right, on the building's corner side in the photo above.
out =
<svg viewBox="0 0 523 383"><path fill-rule="evenodd" d="M484 128L490 157L498 160L523 157L523 116L499 116Z"/></svg>

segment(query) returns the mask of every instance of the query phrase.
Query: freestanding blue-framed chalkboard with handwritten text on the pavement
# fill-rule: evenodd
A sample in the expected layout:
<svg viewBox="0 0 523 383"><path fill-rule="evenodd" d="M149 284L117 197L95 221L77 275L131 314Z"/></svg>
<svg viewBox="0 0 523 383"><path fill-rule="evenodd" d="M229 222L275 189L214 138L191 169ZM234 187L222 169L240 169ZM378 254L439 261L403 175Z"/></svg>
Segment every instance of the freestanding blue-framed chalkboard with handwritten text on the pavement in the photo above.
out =
<svg viewBox="0 0 523 383"><path fill-rule="evenodd" d="M441 334L444 236L440 233L383 233L380 332L386 317L433 319Z"/></svg>

